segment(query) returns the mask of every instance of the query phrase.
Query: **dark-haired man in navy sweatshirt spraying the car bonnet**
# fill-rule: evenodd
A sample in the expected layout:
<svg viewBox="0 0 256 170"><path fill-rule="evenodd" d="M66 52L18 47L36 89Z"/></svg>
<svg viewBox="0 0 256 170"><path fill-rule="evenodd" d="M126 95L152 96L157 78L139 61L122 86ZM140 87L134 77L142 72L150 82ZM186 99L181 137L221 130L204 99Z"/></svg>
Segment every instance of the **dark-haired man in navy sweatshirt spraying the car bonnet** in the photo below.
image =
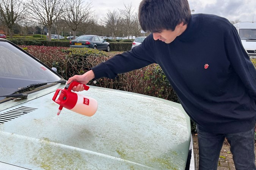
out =
<svg viewBox="0 0 256 170"><path fill-rule="evenodd" d="M141 45L68 83L114 78L158 63L197 124L199 169L217 169L226 137L236 169L255 170L256 71L236 28L216 15L191 15L187 0L142 0L139 21L152 32Z"/></svg>

